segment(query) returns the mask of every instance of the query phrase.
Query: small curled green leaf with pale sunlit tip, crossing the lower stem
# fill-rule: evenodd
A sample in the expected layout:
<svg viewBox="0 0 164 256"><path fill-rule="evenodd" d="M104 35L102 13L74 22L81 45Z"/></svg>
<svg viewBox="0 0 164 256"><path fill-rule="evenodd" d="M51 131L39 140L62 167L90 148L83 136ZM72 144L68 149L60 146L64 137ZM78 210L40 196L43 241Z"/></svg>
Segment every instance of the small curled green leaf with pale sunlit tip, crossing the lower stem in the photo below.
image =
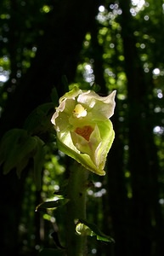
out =
<svg viewBox="0 0 164 256"><path fill-rule="evenodd" d="M115 242L112 237L106 236L101 232L95 224L88 223L88 221L84 219L80 219L79 221L80 223L76 225L76 231L79 235L96 236L97 240L100 241Z"/></svg>

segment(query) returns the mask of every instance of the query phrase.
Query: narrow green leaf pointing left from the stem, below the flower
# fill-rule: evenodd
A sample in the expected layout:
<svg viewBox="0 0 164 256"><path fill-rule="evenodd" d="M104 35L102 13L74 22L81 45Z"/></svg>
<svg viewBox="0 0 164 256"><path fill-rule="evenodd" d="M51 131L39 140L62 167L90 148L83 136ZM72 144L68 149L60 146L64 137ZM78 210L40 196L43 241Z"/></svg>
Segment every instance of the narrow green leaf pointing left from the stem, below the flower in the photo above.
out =
<svg viewBox="0 0 164 256"><path fill-rule="evenodd" d="M45 201L41 204L39 204L36 207L36 211L41 210L42 208L57 208L57 207L62 207L64 206L67 202L69 201L69 199L59 199L56 201Z"/></svg>

